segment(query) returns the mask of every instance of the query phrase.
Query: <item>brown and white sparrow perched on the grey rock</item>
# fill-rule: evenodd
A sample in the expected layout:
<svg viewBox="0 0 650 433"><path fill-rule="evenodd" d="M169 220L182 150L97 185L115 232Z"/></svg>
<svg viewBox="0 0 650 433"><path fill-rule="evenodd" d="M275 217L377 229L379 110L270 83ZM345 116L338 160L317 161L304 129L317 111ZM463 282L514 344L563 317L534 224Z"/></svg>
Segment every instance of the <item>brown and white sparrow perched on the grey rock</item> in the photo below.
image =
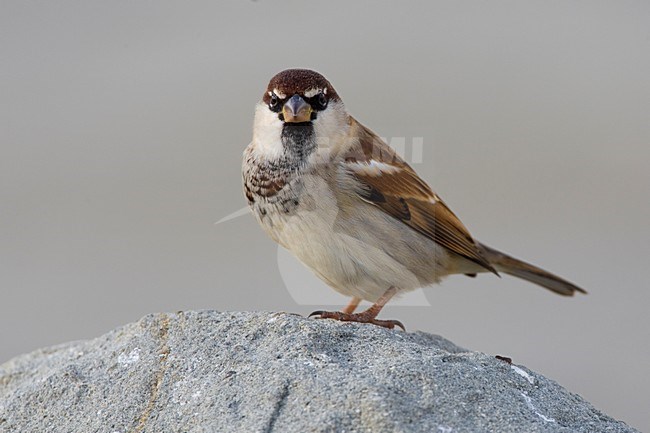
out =
<svg viewBox="0 0 650 433"><path fill-rule="evenodd" d="M404 329L377 319L384 305L453 274L503 272L560 295L586 293L475 240L315 71L287 69L271 78L255 107L242 174L248 205L266 233L351 297L342 311L310 316ZM354 313L361 300L372 306Z"/></svg>

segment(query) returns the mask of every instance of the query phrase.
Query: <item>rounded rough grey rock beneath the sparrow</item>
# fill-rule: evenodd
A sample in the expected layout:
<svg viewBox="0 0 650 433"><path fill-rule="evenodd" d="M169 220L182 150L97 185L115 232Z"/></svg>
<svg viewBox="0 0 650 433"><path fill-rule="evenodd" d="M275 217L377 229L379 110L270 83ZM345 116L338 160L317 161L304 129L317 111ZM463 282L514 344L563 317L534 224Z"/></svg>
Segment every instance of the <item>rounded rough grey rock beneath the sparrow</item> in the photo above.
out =
<svg viewBox="0 0 650 433"><path fill-rule="evenodd" d="M150 315L0 366L0 432L633 432L524 367L424 333Z"/></svg>

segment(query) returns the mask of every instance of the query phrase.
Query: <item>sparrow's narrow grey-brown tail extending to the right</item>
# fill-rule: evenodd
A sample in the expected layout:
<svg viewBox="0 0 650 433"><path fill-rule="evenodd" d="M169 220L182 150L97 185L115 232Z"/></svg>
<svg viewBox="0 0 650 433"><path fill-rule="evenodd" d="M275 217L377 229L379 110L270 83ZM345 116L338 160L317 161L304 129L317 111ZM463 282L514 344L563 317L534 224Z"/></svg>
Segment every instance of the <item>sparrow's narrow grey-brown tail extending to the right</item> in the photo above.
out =
<svg viewBox="0 0 650 433"><path fill-rule="evenodd" d="M510 257L486 245L480 244L480 247L490 264L499 272L539 284L559 295L573 296L575 292L587 293L575 284L557 275L553 275L544 269Z"/></svg>

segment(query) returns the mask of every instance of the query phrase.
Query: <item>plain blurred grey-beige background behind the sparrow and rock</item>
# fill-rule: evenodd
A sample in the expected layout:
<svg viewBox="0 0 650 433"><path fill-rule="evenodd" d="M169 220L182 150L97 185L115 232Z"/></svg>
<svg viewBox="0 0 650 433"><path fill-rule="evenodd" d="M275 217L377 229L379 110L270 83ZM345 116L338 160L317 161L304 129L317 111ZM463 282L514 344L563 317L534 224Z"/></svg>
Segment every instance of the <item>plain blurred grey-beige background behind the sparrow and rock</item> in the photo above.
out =
<svg viewBox="0 0 650 433"><path fill-rule="evenodd" d="M383 316L650 430L643 1L3 1L0 362L150 312L315 309L252 217L214 224L244 206L254 104L294 66L380 135L422 137L416 169L477 238L590 292L454 277Z"/></svg>

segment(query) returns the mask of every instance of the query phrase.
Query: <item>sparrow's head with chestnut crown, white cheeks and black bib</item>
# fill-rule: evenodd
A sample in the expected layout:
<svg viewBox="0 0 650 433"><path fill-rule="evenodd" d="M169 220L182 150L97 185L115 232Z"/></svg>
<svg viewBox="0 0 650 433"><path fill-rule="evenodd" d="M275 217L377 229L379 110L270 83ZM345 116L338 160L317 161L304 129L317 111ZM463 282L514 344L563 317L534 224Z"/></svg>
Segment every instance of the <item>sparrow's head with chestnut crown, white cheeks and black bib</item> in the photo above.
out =
<svg viewBox="0 0 650 433"><path fill-rule="evenodd" d="M334 145L347 123L343 102L325 77L287 69L271 78L257 105L253 140L266 153L306 158Z"/></svg>

